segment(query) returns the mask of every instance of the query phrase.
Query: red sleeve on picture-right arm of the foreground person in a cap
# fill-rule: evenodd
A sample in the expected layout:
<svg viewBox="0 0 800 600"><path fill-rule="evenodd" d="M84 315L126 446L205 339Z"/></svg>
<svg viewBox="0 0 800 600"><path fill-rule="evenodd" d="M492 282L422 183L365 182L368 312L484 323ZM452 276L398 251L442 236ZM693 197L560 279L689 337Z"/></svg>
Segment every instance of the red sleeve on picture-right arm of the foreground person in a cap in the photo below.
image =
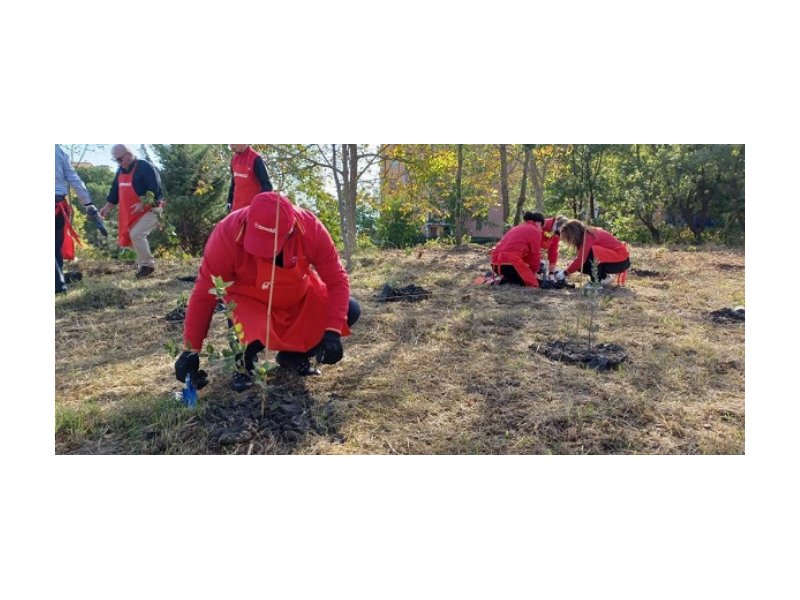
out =
<svg viewBox="0 0 800 600"><path fill-rule="evenodd" d="M333 238L317 217L307 213L311 218L304 219L306 233L303 240L307 242L306 256L314 265L320 278L328 287L328 319L326 330L342 332L347 324L347 309L350 304L350 280L347 271L339 260L339 253Z"/></svg>

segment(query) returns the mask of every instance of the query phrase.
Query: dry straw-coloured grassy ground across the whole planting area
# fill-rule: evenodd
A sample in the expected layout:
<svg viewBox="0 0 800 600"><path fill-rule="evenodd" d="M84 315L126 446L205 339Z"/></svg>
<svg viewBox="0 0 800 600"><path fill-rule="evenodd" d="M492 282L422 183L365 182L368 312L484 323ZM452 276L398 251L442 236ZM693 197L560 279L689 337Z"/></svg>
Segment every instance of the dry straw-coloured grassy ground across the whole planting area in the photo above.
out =
<svg viewBox="0 0 800 600"><path fill-rule="evenodd" d="M161 260L144 281L119 261L71 267L84 277L55 301L56 453L744 453L745 326L710 318L744 304L741 250L634 248L626 286L602 292L594 333L628 358L603 372L536 351L585 341L579 287L476 286L488 268L479 246L360 254L362 317L344 360L318 377L275 371L263 416L220 364L202 365L211 383L196 409L174 399L164 344L180 342L182 321L165 317L197 265ZM378 302L387 283L432 295ZM224 334L217 313L216 346Z"/></svg>

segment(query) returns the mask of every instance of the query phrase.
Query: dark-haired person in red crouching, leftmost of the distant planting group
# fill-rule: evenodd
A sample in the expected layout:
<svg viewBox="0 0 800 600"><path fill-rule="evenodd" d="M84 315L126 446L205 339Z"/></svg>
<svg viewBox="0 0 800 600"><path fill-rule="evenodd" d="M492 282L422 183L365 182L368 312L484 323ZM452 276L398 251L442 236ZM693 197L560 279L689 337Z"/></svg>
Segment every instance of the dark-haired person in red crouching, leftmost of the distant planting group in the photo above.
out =
<svg viewBox="0 0 800 600"><path fill-rule="evenodd" d="M541 217L541 215L539 215ZM512 227L492 251L492 271L503 276L503 284L539 287L542 229L536 213L526 212L523 222Z"/></svg>

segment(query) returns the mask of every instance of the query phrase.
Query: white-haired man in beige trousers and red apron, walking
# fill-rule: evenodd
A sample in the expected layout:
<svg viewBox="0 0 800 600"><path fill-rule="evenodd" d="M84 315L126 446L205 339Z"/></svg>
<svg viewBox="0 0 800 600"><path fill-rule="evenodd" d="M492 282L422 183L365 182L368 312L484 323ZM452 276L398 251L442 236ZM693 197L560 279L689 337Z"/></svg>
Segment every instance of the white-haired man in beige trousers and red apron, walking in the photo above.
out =
<svg viewBox="0 0 800 600"><path fill-rule="evenodd" d="M136 251L136 278L150 277L156 269L147 236L163 210L161 178L153 165L137 158L125 144L115 144L111 156L119 168L100 215L105 218L113 206L119 206L119 245Z"/></svg>

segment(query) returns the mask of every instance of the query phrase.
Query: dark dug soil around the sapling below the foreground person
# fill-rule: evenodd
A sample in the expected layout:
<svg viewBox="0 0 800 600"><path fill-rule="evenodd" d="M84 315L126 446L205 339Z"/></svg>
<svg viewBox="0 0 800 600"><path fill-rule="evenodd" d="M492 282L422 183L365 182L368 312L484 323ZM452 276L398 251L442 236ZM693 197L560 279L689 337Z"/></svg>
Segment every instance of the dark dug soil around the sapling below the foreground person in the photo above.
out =
<svg viewBox="0 0 800 600"><path fill-rule="evenodd" d="M251 392L225 404L210 404L200 424L209 432L209 451L287 453L308 436L343 442L338 432L335 398L318 405L297 378L272 385L261 415L261 397ZM252 449L250 449L252 444ZM241 446L237 448L236 446Z"/></svg>

